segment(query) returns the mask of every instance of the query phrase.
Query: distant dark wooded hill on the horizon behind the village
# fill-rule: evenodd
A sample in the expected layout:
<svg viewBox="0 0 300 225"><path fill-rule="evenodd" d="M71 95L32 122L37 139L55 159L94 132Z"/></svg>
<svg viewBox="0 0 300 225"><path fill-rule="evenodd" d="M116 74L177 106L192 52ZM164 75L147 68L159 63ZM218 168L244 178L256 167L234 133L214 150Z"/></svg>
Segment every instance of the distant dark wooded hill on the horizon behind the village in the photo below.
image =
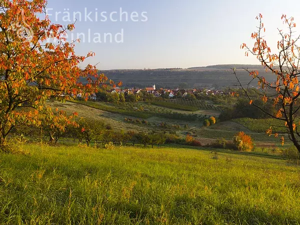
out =
<svg viewBox="0 0 300 225"><path fill-rule="evenodd" d="M232 74L231 68L236 67L237 74L242 82L250 80L249 75L243 68L258 70L260 75L264 75L268 80L275 80L275 76L266 73L261 65L209 65L203 67L181 68L160 68L160 69L117 69L101 70L109 79L121 80L126 87L152 86L173 88L173 87L226 87L236 84L236 78ZM256 85L256 83L253 83Z"/></svg>

